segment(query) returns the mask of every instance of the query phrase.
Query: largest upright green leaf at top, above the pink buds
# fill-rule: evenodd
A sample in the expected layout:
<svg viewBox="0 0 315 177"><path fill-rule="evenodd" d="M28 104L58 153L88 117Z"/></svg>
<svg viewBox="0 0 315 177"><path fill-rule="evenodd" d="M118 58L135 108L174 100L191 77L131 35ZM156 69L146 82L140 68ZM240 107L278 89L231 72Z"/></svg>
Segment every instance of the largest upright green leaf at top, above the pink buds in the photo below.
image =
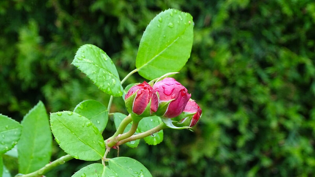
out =
<svg viewBox="0 0 315 177"><path fill-rule="evenodd" d="M174 9L158 14L146 27L140 41L136 68L153 80L169 72L179 71L192 50L192 16Z"/></svg>

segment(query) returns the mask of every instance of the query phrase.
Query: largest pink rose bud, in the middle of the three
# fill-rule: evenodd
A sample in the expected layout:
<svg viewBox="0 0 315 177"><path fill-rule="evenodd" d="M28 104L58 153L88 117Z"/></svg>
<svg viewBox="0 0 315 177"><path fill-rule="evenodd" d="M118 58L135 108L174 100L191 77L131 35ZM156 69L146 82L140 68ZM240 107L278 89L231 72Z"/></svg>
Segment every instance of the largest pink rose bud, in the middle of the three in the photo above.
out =
<svg viewBox="0 0 315 177"><path fill-rule="evenodd" d="M171 77L158 81L153 88L158 92L160 101L156 114L164 118L180 115L191 97L187 89Z"/></svg>

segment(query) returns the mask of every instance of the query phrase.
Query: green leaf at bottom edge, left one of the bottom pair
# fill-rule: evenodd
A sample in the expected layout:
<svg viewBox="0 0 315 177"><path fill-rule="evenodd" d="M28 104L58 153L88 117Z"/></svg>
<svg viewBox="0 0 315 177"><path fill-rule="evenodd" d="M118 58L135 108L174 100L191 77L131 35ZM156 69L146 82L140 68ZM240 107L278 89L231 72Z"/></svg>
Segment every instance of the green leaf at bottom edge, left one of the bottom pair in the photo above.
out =
<svg viewBox="0 0 315 177"><path fill-rule="evenodd" d="M75 172L72 177L101 177L103 170L104 165L100 163L92 163Z"/></svg>

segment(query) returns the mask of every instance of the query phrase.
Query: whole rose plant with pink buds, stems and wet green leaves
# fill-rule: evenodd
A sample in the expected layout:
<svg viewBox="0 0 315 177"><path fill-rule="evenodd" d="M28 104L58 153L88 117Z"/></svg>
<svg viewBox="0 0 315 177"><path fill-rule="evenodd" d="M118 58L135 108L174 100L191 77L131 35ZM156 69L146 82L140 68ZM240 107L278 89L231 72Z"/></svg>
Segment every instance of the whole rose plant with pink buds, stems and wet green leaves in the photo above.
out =
<svg viewBox="0 0 315 177"><path fill-rule="evenodd" d="M169 77L186 64L192 41L190 14L175 9L161 12L150 22L141 38L136 69L123 80L119 79L115 65L103 50L91 44L81 46L72 64L100 90L111 95L108 106L85 100L73 111L48 116L44 104L39 102L21 123L0 114L0 153L8 154L17 147L18 176L24 177L42 176L72 158L100 160L73 176L152 176L135 159L107 158L107 154L123 144L137 147L142 138L149 145L157 145L163 140L163 129L191 129L198 122L201 108L190 99L192 95L185 86ZM124 81L135 72L151 81L123 89ZM113 97L121 96L129 115L110 112ZM104 140L102 132L109 116L113 117L117 131ZM49 162L52 134L67 155ZM153 134L158 136L151 136ZM1 156L0 169L3 169Z"/></svg>

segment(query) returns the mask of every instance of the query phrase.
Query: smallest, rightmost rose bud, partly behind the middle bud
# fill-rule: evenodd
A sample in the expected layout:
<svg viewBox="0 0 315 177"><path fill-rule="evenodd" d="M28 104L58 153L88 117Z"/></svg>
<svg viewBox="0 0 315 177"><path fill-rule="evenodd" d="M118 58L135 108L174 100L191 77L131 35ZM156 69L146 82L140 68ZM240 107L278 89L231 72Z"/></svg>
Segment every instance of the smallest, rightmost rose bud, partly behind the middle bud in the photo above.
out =
<svg viewBox="0 0 315 177"><path fill-rule="evenodd" d="M194 100L189 100L186 104L184 111L173 120L178 121L176 126L184 127L189 126L193 127L196 125L202 114L201 108Z"/></svg>

